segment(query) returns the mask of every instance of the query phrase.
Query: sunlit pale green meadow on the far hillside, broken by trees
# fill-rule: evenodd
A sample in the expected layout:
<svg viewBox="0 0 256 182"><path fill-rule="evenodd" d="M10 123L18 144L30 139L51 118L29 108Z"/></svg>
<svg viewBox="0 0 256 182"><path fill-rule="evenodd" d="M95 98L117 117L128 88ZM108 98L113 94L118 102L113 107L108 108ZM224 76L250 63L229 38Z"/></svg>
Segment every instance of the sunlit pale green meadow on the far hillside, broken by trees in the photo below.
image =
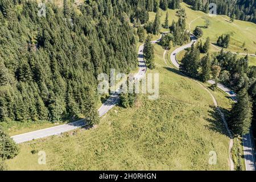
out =
<svg viewBox="0 0 256 182"><path fill-rule="evenodd" d="M209 36L211 43L216 44L218 36L221 34L230 34L230 46L226 51L247 53L245 48L248 50L248 53L255 54L256 52L256 24L251 22L245 22L241 20L234 20L233 23L229 22L229 17L225 15L209 16L208 14L203 13L202 11L194 11L186 3L181 3L181 7L185 9L187 13L187 30L191 32L195 29L196 26L200 26L203 31L203 41ZM172 20L177 21L176 16L177 10L168 9L169 15L169 24L172 23ZM166 11L159 9L160 21L164 22L166 17ZM155 13L150 12L150 21L154 21ZM209 28L204 28L205 19L208 19L210 22ZM162 28L161 31L168 31L167 29ZM243 47L243 43L245 46ZM210 52L220 51L220 47L210 46ZM256 65L256 57L249 58L250 65Z"/></svg>

